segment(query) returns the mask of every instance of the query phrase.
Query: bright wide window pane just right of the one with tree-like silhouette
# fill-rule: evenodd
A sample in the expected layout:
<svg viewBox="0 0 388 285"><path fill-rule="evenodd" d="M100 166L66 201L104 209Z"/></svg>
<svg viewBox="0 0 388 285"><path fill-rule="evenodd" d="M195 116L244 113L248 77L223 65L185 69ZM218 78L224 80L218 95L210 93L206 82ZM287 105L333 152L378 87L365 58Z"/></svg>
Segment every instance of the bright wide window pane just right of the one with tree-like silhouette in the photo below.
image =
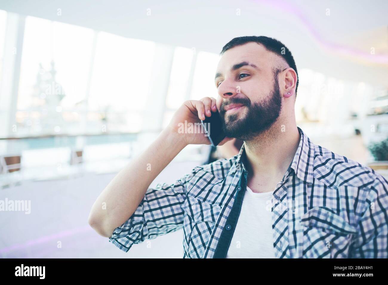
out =
<svg viewBox="0 0 388 285"><path fill-rule="evenodd" d="M140 131L154 53L154 42L99 33L88 109L109 121L109 131Z"/></svg>

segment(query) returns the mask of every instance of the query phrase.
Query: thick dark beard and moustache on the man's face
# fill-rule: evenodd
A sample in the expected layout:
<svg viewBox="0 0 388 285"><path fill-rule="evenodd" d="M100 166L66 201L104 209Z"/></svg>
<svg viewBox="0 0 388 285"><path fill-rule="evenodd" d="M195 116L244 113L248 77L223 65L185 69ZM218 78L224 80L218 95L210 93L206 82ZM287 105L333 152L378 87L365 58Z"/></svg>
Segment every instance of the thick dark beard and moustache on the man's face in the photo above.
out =
<svg viewBox="0 0 388 285"><path fill-rule="evenodd" d="M246 116L237 119L238 114L228 116L228 122L225 122L225 106L222 103L220 107L220 116L222 121L222 130L226 136L237 138L239 140L252 140L264 131L268 130L282 109L282 99L279 90L277 74L274 76L274 88L269 97L260 103L251 104L247 97L232 97L228 100L229 104L244 104L248 109Z"/></svg>

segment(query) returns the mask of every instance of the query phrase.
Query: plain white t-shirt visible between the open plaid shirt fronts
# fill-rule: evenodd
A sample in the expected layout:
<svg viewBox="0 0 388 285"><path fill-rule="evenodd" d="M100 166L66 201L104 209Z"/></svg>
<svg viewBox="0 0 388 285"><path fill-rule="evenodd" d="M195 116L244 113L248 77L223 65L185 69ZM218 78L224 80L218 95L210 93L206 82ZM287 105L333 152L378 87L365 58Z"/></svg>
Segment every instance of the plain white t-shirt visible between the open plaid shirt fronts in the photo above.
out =
<svg viewBox="0 0 388 285"><path fill-rule="evenodd" d="M275 258L272 212L268 206L273 193L255 193L246 187L226 258Z"/></svg>

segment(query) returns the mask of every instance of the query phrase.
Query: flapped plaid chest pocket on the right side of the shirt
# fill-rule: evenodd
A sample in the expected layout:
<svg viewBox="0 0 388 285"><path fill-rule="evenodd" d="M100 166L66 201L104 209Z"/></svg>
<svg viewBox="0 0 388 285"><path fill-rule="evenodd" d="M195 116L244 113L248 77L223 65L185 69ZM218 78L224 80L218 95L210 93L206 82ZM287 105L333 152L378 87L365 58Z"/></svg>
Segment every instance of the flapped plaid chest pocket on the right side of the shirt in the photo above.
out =
<svg viewBox="0 0 388 285"><path fill-rule="evenodd" d="M332 209L314 207L301 217L303 258L348 258L353 235L357 233Z"/></svg>

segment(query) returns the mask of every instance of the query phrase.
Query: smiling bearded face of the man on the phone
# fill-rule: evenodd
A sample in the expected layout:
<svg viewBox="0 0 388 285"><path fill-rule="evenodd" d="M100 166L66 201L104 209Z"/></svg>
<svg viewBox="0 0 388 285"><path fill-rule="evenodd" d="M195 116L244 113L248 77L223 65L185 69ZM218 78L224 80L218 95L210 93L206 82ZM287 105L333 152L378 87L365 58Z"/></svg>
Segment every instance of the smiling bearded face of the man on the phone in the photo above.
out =
<svg viewBox="0 0 388 285"><path fill-rule="evenodd" d="M217 67L217 109L227 136L251 140L279 117L282 97L273 66L276 55L246 43L227 50Z"/></svg>

